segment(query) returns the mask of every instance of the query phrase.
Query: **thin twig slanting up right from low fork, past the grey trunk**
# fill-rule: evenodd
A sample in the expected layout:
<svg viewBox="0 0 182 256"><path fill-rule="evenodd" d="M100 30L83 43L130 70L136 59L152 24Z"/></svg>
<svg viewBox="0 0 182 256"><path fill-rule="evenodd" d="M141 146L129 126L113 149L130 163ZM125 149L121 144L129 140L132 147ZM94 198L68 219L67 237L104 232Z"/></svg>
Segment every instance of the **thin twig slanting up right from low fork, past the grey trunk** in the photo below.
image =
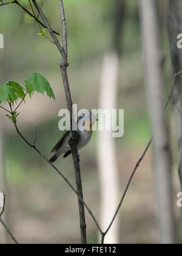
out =
<svg viewBox="0 0 182 256"><path fill-rule="evenodd" d="M166 105L164 107L164 111L166 110L167 106L169 105L169 101L170 101L170 98L172 97L172 93L174 91L174 87L175 87L175 81L177 79L177 77L181 74L181 71L177 74L174 75L174 80L173 80L173 83L172 83L172 88L170 90L170 93L169 93L169 97L167 98L167 102L166 102ZM101 237L101 243L103 244L104 243L104 237L107 235L107 233L109 232L110 230L110 227L112 226L113 222L115 221L115 218L121 208L121 205L123 204L123 201L124 201L124 198L126 196L126 193L127 193L127 190L129 189L129 186L130 186L130 183L132 182L132 179L133 179L133 176L135 175L135 172L136 172L136 169L138 169L138 167L140 166L140 163L141 161L143 160L144 156L146 155L146 152L148 151L149 147L150 147L150 144L152 143L152 140L153 140L153 137L150 138L149 140L149 143L147 144L146 146L146 149L144 149L144 152L143 154L141 155L140 159L138 160L138 162L136 163L135 165L135 168L133 169L132 171L132 174L130 176L130 179L129 179L129 182L127 183L127 186L126 186L126 189L124 190L124 193L123 193L123 196L121 197L121 201L120 201L120 204L118 205L118 208L116 209L116 212L115 212L115 215L113 216L112 218L112 221L110 222L109 224L109 227L107 228L106 232L103 233L102 237Z"/></svg>

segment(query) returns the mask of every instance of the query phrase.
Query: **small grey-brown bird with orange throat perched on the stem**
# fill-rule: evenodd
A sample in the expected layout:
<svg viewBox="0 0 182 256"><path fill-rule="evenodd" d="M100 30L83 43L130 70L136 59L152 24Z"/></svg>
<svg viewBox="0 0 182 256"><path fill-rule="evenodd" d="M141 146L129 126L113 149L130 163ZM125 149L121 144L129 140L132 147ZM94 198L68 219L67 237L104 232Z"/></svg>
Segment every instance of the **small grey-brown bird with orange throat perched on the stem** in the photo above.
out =
<svg viewBox="0 0 182 256"><path fill-rule="evenodd" d="M81 116L78 117L78 149L83 148L84 146L86 146L87 143L89 143L90 138L92 137L92 126L93 124L95 124L96 121L98 121L98 119L96 119L96 116L90 111L88 113L83 113ZM79 124L83 126L83 129L79 128ZM72 153L69 145L69 140L71 137L72 132L70 130L67 130L62 136L61 140L58 141L58 143L51 151L53 153L55 152L55 155L53 155L53 157L50 158L49 160L51 163L55 162L56 159L62 154L64 154L63 158L66 158L68 155Z"/></svg>

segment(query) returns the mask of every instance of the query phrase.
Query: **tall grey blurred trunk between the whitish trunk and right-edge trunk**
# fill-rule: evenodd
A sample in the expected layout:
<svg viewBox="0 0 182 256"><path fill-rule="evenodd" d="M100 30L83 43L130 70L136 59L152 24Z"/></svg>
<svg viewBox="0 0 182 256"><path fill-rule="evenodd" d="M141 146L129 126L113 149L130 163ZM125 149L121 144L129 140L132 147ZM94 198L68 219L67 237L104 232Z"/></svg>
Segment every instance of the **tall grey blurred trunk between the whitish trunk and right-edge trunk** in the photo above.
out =
<svg viewBox="0 0 182 256"><path fill-rule="evenodd" d="M140 0L146 86L153 133L153 162L160 241L164 244L172 244L175 243L175 223L172 203L171 156L164 118L164 87L156 6L155 0Z"/></svg>

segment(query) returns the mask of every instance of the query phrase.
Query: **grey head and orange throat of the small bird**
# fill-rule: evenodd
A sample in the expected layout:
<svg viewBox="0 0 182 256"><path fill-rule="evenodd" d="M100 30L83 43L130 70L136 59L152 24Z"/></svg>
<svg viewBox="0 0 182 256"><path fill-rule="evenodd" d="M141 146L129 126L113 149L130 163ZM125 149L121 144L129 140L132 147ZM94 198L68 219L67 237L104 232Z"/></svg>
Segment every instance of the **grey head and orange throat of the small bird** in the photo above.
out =
<svg viewBox="0 0 182 256"><path fill-rule="evenodd" d="M81 116L78 117L78 128L79 130L92 130L92 126L96 121L98 121L98 119L96 119L95 114L89 110L86 110L85 112L81 113Z"/></svg>

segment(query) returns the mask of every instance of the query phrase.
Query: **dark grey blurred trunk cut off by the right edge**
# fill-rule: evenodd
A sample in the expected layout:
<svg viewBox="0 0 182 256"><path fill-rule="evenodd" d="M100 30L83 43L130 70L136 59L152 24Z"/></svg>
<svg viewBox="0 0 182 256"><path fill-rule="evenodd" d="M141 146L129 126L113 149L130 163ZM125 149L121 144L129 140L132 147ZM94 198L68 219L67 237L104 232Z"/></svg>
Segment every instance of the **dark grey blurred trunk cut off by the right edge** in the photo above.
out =
<svg viewBox="0 0 182 256"><path fill-rule="evenodd" d="M182 69L182 51L177 48L177 35L182 33L182 1L169 0L169 41L174 73ZM182 76L177 77L174 92L175 109L177 112L179 175L182 188Z"/></svg>

